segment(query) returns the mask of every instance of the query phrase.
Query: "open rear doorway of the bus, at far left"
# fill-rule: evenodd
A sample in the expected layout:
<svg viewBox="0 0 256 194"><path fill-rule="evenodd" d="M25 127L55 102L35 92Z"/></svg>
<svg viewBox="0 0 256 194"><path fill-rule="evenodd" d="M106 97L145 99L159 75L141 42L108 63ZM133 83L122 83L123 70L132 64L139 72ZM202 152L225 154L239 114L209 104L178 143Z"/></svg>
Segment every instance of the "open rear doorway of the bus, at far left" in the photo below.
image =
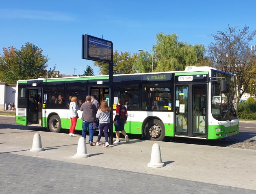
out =
<svg viewBox="0 0 256 194"><path fill-rule="evenodd" d="M42 120L42 88L28 89L27 123L41 126Z"/></svg>

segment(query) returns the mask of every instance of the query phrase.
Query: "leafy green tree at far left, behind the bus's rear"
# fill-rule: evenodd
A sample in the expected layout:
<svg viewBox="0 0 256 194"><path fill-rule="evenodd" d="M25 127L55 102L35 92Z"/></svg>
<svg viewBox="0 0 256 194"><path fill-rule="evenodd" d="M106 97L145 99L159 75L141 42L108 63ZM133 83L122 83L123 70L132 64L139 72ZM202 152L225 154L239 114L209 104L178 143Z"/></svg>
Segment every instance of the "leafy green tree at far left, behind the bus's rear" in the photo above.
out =
<svg viewBox="0 0 256 194"><path fill-rule="evenodd" d="M22 45L20 50L13 46L3 48L3 55L0 55L0 80L14 84L20 79L46 77L48 58L42 52L42 49L31 43Z"/></svg>

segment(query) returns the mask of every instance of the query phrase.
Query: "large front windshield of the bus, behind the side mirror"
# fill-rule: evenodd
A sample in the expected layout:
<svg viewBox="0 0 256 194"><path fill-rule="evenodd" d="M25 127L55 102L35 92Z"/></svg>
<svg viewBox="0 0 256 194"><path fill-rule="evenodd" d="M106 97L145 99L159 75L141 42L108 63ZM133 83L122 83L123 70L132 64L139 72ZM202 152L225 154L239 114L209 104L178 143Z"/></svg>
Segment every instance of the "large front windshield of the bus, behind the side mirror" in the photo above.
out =
<svg viewBox="0 0 256 194"><path fill-rule="evenodd" d="M221 92L221 80L227 81L226 92ZM213 70L211 86L211 109L213 117L218 121L237 119L238 117L235 106L236 93L234 85L234 76L221 72L216 72Z"/></svg>

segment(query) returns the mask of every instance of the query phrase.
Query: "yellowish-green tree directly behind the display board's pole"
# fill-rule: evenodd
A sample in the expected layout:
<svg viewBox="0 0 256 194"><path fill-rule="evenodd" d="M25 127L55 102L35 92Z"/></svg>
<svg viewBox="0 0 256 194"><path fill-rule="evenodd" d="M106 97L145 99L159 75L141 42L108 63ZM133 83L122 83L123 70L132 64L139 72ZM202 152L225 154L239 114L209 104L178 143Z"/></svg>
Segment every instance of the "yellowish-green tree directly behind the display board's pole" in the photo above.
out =
<svg viewBox="0 0 256 194"><path fill-rule="evenodd" d="M137 54L131 55L129 52L113 52L113 74L135 73L133 64L137 60ZM100 75L108 75L108 64L102 62L94 62L95 66L100 68Z"/></svg>

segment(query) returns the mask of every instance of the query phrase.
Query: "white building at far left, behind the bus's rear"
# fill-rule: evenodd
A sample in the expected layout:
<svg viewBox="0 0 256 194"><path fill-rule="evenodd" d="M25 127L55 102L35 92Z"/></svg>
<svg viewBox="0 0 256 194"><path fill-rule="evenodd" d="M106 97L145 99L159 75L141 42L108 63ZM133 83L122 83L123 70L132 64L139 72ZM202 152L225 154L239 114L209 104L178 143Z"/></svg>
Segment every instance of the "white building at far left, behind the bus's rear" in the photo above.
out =
<svg viewBox="0 0 256 194"><path fill-rule="evenodd" d="M7 110L7 104L15 100L16 85L0 82L0 110Z"/></svg>

